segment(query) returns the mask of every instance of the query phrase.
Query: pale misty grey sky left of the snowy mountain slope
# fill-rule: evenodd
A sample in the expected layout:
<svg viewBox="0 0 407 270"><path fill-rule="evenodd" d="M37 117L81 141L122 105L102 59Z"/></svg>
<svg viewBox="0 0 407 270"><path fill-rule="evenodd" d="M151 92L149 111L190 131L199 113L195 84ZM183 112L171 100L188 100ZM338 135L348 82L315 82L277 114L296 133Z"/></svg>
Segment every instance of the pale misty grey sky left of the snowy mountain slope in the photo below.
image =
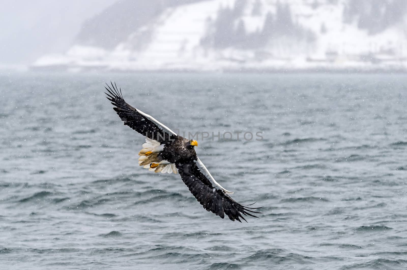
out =
<svg viewBox="0 0 407 270"><path fill-rule="evenodd" d="M0 65L30 64L70 47L81 24L117 0L14 0L0 9Z"/></svg>

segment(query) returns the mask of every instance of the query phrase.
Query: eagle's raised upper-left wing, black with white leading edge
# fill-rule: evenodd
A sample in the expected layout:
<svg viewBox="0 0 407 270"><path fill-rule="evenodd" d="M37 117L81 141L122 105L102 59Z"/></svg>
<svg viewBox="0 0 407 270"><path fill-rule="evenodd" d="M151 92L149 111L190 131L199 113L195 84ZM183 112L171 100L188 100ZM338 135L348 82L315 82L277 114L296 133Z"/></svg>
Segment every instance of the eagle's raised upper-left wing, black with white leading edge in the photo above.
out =
<svg viewBox="0 0 407 270"><path fill-rule="evenodd" d="M113 84L110 82L110 84L112 84L113 89L106 84L109 89L106 86L105 88L109 94L105 94L107 95L107 99L112 101L112 104L116 106L113 109L116 111L120 119L125 122L125 125L131 127L147 138L157 140L160 143L167 141L168 139L175 139L178 136L177 133L168 129L168 127L155 120L152 116L144 114L139 109L127 104L123 99L121 89L117 89L116 83Z"/></svg>

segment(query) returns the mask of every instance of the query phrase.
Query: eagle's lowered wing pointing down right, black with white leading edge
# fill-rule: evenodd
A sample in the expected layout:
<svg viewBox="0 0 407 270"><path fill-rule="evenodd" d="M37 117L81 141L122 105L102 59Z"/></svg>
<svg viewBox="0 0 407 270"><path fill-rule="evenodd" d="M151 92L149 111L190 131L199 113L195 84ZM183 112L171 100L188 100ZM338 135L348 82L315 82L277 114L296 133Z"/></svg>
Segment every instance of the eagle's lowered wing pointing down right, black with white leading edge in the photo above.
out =
<svg viewBox="0 0 407 270"><path fill-rule="evenodd" d="M246 221L243 215L254 216L250 213L261 213L250 210L261 207L247 207L229 197L228 194L232 192L223 189L223 187L213 179L199 158L180 161L175 163L175 166L178 169L182 181L188 186L189 191L207 211L220 216L222 219L226 215L230 220L237 220L239 222L241 222L240 219Z"/></svg>

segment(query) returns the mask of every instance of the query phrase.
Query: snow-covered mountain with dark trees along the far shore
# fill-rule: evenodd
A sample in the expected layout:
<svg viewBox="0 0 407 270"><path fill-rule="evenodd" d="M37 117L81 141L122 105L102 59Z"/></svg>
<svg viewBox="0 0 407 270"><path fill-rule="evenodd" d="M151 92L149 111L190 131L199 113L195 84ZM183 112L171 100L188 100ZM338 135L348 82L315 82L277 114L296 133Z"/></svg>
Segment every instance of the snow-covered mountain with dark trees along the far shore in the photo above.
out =
<svg viewBox="0 0 407 270"><path fill-rule="evenodd" d="M405 0L125 0L36 69L407 69Z"/></svg>

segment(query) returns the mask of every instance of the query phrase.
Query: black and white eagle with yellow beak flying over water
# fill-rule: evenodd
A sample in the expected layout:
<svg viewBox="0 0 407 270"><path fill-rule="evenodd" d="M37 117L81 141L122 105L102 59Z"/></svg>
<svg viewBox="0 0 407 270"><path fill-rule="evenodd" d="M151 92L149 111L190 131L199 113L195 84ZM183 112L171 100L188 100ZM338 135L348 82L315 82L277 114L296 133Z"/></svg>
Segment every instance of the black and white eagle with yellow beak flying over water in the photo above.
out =
<svg viewBox="0 0 407 270"><path fill-rule="evenodd" d="M229 195L233 192L224 189L209 173L204 163L195 152L198 142L186 139L152 116L129 105L122 95L121 88L110 82L105 88L107 99L114 105L114 110L126 126L131 127L146 137L142 150L138 153L140 166L150 171L174 173L181 176L189 191L207 210L222 219L225 216L232 221L246 221L243 216L255 216L261 207L249 207L253 204L239 204ZM247 221L246 221L247 222Z"/></svg>

